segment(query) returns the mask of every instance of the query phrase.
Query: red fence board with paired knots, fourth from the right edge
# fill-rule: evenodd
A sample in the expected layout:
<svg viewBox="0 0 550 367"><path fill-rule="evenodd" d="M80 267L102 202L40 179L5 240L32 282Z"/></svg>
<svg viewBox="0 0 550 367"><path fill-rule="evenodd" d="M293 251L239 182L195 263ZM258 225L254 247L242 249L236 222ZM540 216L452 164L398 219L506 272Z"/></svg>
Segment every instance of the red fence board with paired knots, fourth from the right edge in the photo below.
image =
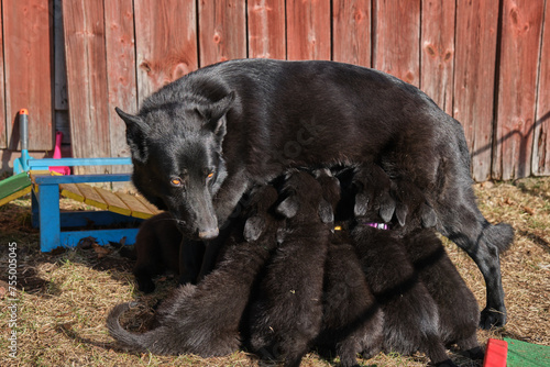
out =
<svg viewBox="0 0 550 367"><path fill-rule="evenodd" d="M420 89L452 115L455 4L422 0L420 38Z"/></svg>

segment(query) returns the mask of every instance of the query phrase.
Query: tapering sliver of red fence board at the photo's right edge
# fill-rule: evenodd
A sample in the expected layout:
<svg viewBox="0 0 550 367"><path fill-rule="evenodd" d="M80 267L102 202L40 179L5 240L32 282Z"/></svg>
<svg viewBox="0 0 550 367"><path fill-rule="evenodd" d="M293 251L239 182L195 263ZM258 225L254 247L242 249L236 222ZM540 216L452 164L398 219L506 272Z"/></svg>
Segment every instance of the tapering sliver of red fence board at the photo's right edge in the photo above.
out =
<svg viewBox="0 0 550 367"><path fill-rule="evenodd" d="M550 1L546 1L542 49L539 63L537 119L532 144L532 173L550 175Z"/></svg>

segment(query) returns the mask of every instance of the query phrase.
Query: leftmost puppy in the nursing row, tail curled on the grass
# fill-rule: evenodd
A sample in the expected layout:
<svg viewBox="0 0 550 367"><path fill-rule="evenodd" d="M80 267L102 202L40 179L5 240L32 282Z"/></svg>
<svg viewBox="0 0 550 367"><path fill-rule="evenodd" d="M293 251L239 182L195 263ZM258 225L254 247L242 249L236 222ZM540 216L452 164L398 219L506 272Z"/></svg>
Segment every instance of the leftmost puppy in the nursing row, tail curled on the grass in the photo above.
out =
<svg viewBox="0 0 550 367"><path fill-rule="evenodd" d="M251 289L276 245L280 220L268 213L276 200L277 191L272 186L253 191L249 208L222 249L221 262L197 286L179 287L161 304L157 327L144 334L125 331L119 316L130 303L123 303L108 316L111 336L131 349L154 354L209 357L237 351Z"/></svg>

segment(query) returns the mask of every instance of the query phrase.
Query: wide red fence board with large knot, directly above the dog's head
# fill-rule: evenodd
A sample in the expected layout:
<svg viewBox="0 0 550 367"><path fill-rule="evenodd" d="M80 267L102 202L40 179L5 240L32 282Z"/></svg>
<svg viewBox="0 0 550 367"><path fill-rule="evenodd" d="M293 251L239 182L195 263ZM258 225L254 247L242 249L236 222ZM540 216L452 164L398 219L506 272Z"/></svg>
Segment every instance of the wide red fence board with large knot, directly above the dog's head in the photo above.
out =
<svg viewBox="0 0 550 367"><path fill-rule="evenodd" d="M195 0L134 0L138 99L198 68Z"/></svg>

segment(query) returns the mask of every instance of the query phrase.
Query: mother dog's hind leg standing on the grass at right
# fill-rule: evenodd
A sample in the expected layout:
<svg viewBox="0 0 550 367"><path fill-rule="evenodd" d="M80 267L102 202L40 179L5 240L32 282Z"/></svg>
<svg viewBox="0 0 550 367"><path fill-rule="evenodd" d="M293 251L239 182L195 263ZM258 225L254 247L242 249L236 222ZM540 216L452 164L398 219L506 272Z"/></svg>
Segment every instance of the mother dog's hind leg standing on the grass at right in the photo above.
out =
<svg viewBox="0 0 550 367"><path fill-rule="evenodd" d="M443 200L435 203L439 232L472 257L485 279L486 307L482 311L480 326L503 326L506 308L499 254L509 247L514 230L505 223L491 224L479 210L470 186L440 198Z"/></svg>

